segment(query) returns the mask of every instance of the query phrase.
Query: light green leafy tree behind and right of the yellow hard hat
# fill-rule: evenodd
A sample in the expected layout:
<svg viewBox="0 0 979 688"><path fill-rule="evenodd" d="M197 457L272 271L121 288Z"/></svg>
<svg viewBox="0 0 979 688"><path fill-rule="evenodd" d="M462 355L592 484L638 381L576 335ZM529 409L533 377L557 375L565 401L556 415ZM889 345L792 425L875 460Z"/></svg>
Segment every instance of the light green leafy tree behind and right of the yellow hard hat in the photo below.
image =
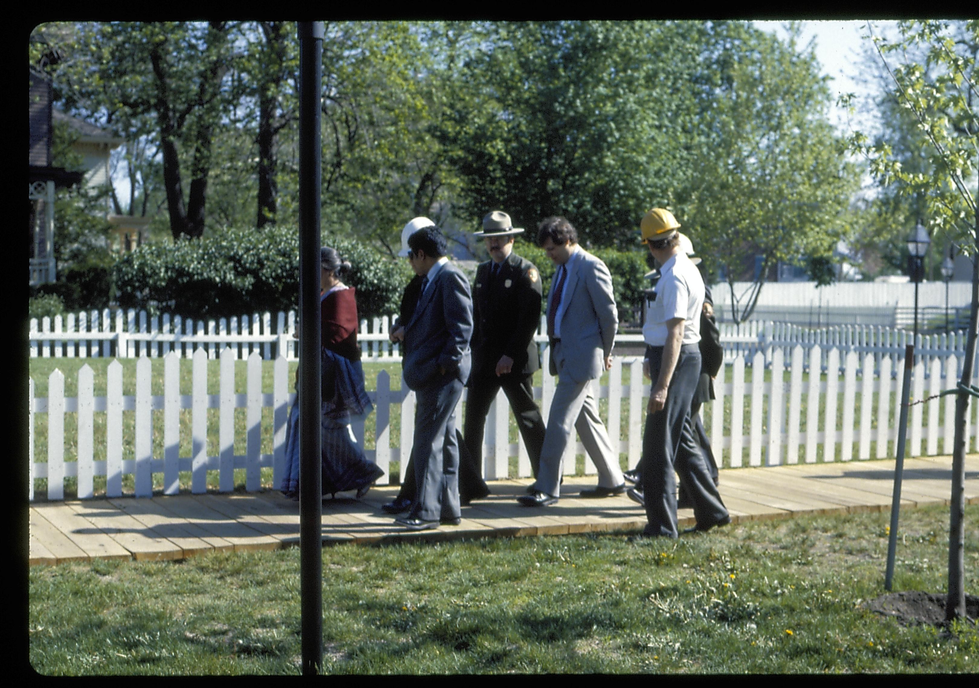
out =
<svg viewBox="0 0 979 688"><path fill-rule="evenodd" d="M790 27L783 43L730 21L704 36L700 136L676 207L705 268L725 268L736 323L751 316L776 262L829 260L857 190L846 142L826 116L829 91L812 46L797 45L799 30ZM745 268L753 283L738 295Z"/></svg>

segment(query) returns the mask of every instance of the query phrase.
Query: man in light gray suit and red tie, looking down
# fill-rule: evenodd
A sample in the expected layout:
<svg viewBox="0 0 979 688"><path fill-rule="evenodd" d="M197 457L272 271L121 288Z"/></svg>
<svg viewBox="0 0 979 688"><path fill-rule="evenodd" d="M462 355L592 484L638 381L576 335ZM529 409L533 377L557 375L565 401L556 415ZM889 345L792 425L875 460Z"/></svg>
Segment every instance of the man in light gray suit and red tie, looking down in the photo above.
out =
<svg viewBox="0 0 979 688"><path fill-rule="evenodd" d="M580 496L622 495L626 483L619 449L612 447L598 415L595 380L612 366L619 313L612 276L601 260L578 245L578 232L562 217L549 217L537 228L537 243L557 266L547 296L550 373L558 376L540 451L540 469L529 490L518 497L525 506L554 504L560 496L565 448L582 436L585 451L598 469L598 487Z"/></svg>

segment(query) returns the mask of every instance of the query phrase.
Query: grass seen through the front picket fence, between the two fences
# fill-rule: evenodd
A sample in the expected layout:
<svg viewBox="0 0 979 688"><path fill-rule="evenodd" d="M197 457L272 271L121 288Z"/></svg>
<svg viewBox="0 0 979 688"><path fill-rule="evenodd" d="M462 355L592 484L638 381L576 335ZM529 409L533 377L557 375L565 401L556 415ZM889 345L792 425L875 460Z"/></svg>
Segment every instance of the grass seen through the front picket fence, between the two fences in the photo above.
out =
<svg viewBox="0 0 979 688"><path fill-rule="evenodd" d="M77 394L77 376L78 370L81 366L88 365L93 369L94 377L94 389L95 396L104 396L106 393L106 370L112 359L29 359L29 370L30 376L34 380L35 391L34 394L37 397L47 396L47 386L48 386L48 376L57 367L65 375L65 394L68 397L73 397ZM152 393L154 395L163 394L163 359L150 359L152 366ZM136 360L135 359L122 359L120 363L123 368L123 394L133 395L135 394L135 379L136 379ZM182 359L180 361L180 393L181 394L191 394L191 371L192 371L192 361L189 359ZM296 369L299 366L298 363L293 362L289 364L289 379L290 391L293 390L292 380L295 379ZM725 379L728 382L732 379L733 374L731 370L732 366L727 367ZM373 391L376 388L377 375L382 370L387 370L391 375L391 386L392 389L399 390L401 383L401 366L398 363L392 364L365 364L364 373L366 378L367 389ZM745 369L745 386L747 391L750 391L750 385L752 380L751 368ZM790 372L788 370L784 373L784 381L789 381ZM771 372L767 370L765 372L766 381L770 381ZM629 382L629 369L628 367L624 369L623 382ZM219 391L219 362L209 361L208 362L208 393L217 394ZM537 371L534 375L535 386L541 385L541 372ZM825 376L822 376L825 379ZM271 393L273 383L273 363L272 362L262 362L262 392ZM608 384L608 374L605 374L601 379L602 384ZM803 376L803 395L801 400L801 418L800 418L800 432L806 432L807 421L808 421L808 390L806 386L809 383L809 376ZM244 394L247 384L247 363L245 361L238 361L235 363L235 392L237 394ZM860 382L858 381L858 389L860 387ZM870 443L870 456L876 456L876 427L877 427L877 413L876 413L876 399L878 397L877 393L874 393L874 409L871 413L870 424L872 428L871 443ZM743 433L744 435L749 435L751 432L751 406L750 397L745 397L744 408L743 408ZM785 402L785 417L783 418L783 429L785 432L788 431L788 395L784 395ZM895 417L897 414L897 405L899 399L897 393L891 394L891 402L889 405L890 413L890 423L895 422ZM645 420L645 403L646 398L643 398L642 402L642 414L643 422ZM730 433L731 424L731 411L733 407L733 400L730 396L724 398L724 409L723 409L723 423L724 423L724 433ZM607 421L608 419L608 400L599 400L599 410L600 413ZM705 427L707 429L708 435L710 436L712 429L711 424L713 422L713 416L709 409L705 409ZM762 408L762 432L768 432L769 423L769 398L764 397L763 408ZM941 403L939 405L940 421L941 425L944 422L945 415L945 404ZM825 395L820 396L819 405L819 428L822 427L825 416ZM209 455L215 455L218 453L218 417L219 409L208 409L208 453ZM927 412L924 414L925 423L927 420ZM245 454L247 448L247 436L246 436L246 418L247 409L236 409L234 412L235 418L235 448L234 452L236 454ZM622 440L626 440L629 437L629 400L624 399L621 407L620 414L620 437ZM842 377L839 383L838 389L838 399L836 407L836 418L837 427L842 428L843 424L843 380ZM859 442L860 442L860 430L859 423L861 418L861 395L857 394L855 399L855 409L854 409L855 423L858 427L854 429L854 451L853 456L857 457L859 455ZM392 446L397 447L400 443L400 408L391 408L391 441ZM261 453L271 453L272 452L272 409L262 409L261 416ZM372 450L375 448L374 443L374 429L376 422L376 413L371 413L365 423L365 436L366 436L366 449ZM462 419L457 420L461 424ZM46 413L38 413L34 417L34 461L45 462L47 460L47 423L48 418ZM153 411L153 455L158 458L163 457L163 411ZM190 456L191 455L191 424L192 424L192 410L182 409L180 411L180 455ZM99 412L94 414L94 436L93 436L93 453L95 460L105 460L106 458L106 414ZM509 441L510 443L517 442L517 425L513 418L512 413L510 414L509 423ZM923 436L924 433L922 433ZM135 435L135 411L123 411L122 412L122 457L123 458L133 458L134 457L134 442L133 437ZM69 412L65 414L65 460L73 461L76 459L76 442L77 442L77 421L75 420L75 413ZM893 456L894 442L889 443L888 455ZM749 452L750 447L746 442L742 449L742 465L748 465L749 463ZM763 448L763 455L765 449ZM822 445L818 445L816 449L816 460L822 462L824 460L839 460L842 456L843 447L842 444L836 445L835 456L825 456L824 448ZM939 452L945 452L944 440L939 439ZM730 450L719 450L715 448L715 454L720 458L723 466L731 465ZM801 446L799 448L800 460L805 460L805 447ZM628 456L626 453L620 455L620 462L622 467L628 468ZM585 457L583 454L579 454L577 458L577 472L583 474L585 465ZM392 464L392 472L399 470L397 462ZM235 472L234 484L236 487L244 489L245 486L245 470L239 469ZM509 464L509 474L511 476L517 475L517 458L514 456L510 459ZM122 489L124 494L131 494L134 489L134 478L132 475L123 476ZM105 476L96 476L94 479L94 489L95 494L104 494L105 491ZM180 474L180 487L181 490L189 490L191 484L191 474L189 472L183 472ZM261 484L266 488L272 488L272 469L263 468L261 470ZM218 485L218 474L216 471L209 471L208 474L208 485L211 489L216 489ZM154 475L154 489L158 491L163 490L163 475ZM76 495L76 483L74 478L67 478L65 481L65 491L66 496L71 497ZM38 479L35 481L34 491L37 495L45 495L47 492L47 481L45 479Z"/></svg>

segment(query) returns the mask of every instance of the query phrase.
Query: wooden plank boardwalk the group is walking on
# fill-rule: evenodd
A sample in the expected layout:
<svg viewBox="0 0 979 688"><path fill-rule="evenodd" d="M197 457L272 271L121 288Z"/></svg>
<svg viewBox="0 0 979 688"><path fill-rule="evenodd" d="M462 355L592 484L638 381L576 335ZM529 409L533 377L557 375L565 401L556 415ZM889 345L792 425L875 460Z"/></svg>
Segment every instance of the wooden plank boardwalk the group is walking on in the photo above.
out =
<svg viewBox="0 0 979 688"><path fill-rule="evenodd" d="M849 461L721 472L721 495L731 520L792 518L805 514L887 511L894 461ZM645 513L626 496L577 498L594 476L565 479L556 506L529 509L515 498L529 479L494 481L492 495L462 509L462 524L435 531L407 532L381 504L396 487L375 488L363 499L323 503L323 543L378 542L636 532ZM949 503L951 456L905 461L903 507ZM965 499L979 502L979 454L966 458ZM681 509L680 527L693 525ZM213 551L248 551L295 546L300 541L299 502L278 492L171 495L35 502L30 506L30 564L90 559L167 560Z"/></svg>

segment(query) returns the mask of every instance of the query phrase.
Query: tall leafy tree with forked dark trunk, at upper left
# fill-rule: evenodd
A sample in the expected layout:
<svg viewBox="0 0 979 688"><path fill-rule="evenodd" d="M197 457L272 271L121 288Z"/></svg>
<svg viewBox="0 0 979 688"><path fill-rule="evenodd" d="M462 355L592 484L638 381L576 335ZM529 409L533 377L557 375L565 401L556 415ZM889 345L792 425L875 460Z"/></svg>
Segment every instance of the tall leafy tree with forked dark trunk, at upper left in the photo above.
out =
<svg viewBox="0 0 979 688"><path fill-rule="evenodd" d="M152 132L170 232L174 238L202 236L212 139L229 102L232 26L78 22L58 28L66 58L55 72L56 99L133 144Z"/></svg>

